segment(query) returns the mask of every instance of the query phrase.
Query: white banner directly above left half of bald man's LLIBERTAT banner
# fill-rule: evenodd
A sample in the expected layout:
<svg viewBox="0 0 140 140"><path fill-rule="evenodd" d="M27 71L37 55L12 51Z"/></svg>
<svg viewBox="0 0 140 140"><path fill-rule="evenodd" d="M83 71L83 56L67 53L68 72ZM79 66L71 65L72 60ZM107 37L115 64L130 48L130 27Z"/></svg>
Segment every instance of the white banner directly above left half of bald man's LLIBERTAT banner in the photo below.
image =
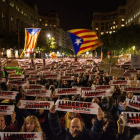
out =
<svg viewBox="0 0 140 140"><path fill-rule="evenodd" d="M81 89L77 87L73 88L57 88L55 89L56 95L75 95L75 94L80 94Z"/></svg>

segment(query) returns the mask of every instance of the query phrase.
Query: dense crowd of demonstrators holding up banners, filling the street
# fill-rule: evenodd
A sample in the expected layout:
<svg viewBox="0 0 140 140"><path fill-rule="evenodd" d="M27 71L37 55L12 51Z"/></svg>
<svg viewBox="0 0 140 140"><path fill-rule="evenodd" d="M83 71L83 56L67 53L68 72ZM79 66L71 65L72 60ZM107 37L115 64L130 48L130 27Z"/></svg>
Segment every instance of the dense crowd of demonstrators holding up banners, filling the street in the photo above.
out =
<svg viewBox="0 0 140 140"><path fill-rule="evenodd" d="M42 62L43 63L43 62ZM52 62L53 63L53 62ZM28 63L31 65L31 63ZM91 69L85 72L74 73L71 66L77 66L77 69L84 69L86 66ZM126 98L134 100L135 92L123 92L122 85L113 85L114 89L111 96L100 96L93 98L82 97L82 93L75 95L56 95L58 88L72 87L94 87L95 85L111 85L111 80L139 80L138 73L131 77L114 77L109 73L99 69L100 63L78 62L78 61L61 61L55 62L55 65L49 65L48 71L56 72L60 79L45 79L43 74L36 76L37 81L28 81L25 86L13 86L8 81L9 73L6 67L1 66L0 79L1 91L17 91L15 99L0 99L0 105L14 105L15 109L11 115L0 114L0 132L42 132L42 140L140 140L140 126L129 127L124 125L122 112L139 112L139 110L128 107ZM34 62L34 71L39 71ZM47 63L46 63L47 67ZM71 68L67 73L66 68ZM96 74L90 74L90 73ZM124 69L125 72L125 69ZM30 77L26 69L22 69L22 81L27 81ZM61 79L62 75L73 76L72 80ZM16 79L17 80L17 79ZM18 79L19 80L19 79ZM25 88L30 85L42 85L51 91L50 97L27 96ZM124 85L123 85L124 86ZM130 85L131 86L131 85ZM139 85L135 85L138 87ZM137 94L138 95L138 94ZM98 114L84 114L75 112L56 111L55 105L49 110L39 109L21 109L20 100L37 100L37 101L56 101L71 100L91 102L98 104Z"/></svg>

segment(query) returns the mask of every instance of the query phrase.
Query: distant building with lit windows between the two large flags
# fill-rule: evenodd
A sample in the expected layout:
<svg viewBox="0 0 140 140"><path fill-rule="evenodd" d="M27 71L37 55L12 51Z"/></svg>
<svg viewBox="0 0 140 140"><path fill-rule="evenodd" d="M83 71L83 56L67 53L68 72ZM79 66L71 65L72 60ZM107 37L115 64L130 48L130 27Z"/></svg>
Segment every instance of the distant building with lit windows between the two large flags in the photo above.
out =
<svg viewBox="0 0 140 140"><path fill-rule="evenodd" d="M67 47L67 33L60 28L60 20L56 11L50 11L47 15L40 16L39 27L41 28L40 34L42 36L47 38L50 35L55 38L57 46Z"/></svg>

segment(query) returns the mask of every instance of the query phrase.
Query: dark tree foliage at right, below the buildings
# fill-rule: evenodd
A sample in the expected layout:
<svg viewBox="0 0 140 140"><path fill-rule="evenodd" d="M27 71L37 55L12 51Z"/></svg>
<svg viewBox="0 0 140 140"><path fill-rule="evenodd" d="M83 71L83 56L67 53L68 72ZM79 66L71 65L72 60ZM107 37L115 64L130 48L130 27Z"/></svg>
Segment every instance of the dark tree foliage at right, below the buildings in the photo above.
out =
<svg viewBox="0 0 140 140"><path fill-rule="evenodd" d="M140 25L131 24L118 29L115 33L104 34L101 36L103 42L103 52L107 54L108 51L120 54L122 51L130 51L132 46L136 46L136 50L140 49Z"/></svg>

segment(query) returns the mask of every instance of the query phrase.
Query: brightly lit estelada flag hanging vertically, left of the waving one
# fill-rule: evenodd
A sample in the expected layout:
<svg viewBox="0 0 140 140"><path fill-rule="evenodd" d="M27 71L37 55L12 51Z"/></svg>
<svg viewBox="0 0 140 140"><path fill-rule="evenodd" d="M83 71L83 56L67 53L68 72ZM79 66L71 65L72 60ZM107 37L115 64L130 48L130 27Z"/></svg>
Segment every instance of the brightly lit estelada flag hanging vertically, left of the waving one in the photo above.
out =
<svg viewBox="0 0 140 140"><path fill-rule="evenodd" d="M32 49L36 48L38 35L40 33L40 28L25 28L25 44L24 49Z"/></svg>

